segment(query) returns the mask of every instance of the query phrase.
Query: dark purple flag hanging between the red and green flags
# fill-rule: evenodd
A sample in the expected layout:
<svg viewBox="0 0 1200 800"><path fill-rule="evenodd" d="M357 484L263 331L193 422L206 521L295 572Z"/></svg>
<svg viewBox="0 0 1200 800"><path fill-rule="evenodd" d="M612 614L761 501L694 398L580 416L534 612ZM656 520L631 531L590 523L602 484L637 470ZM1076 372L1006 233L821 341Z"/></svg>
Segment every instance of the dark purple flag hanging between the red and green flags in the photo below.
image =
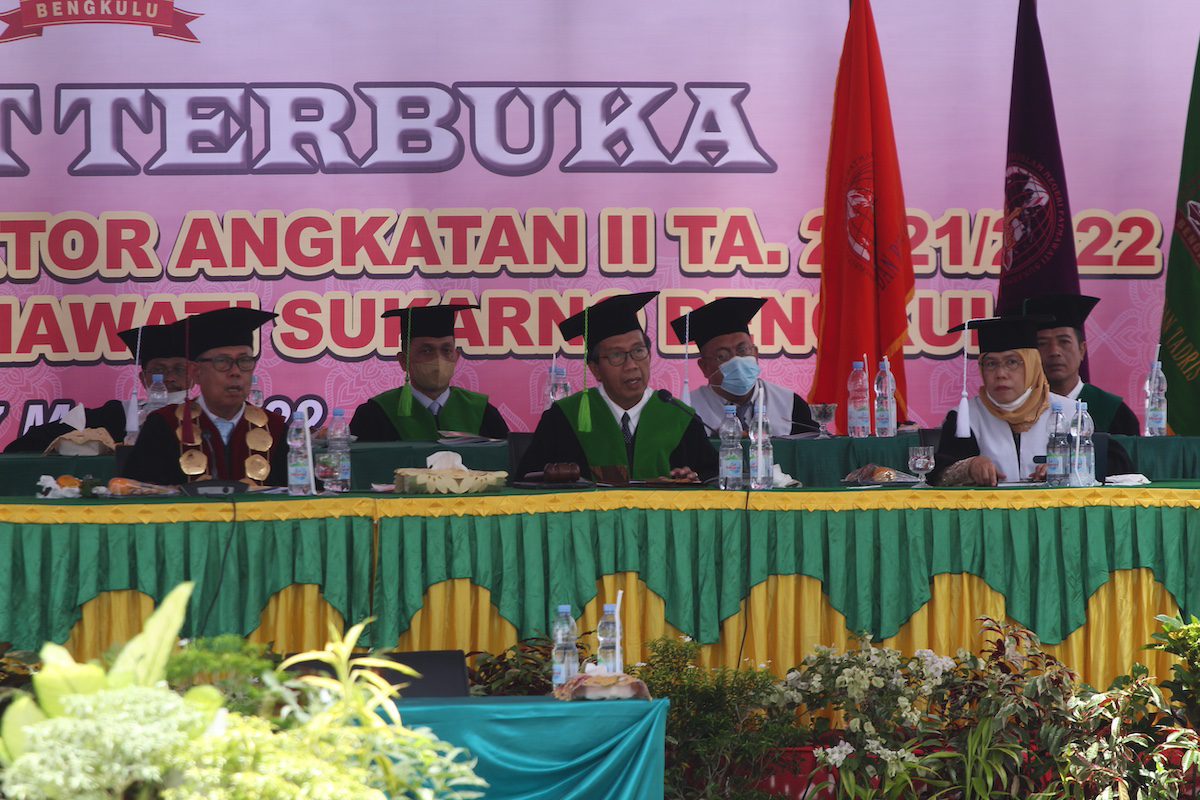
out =
<svg viewBox="0 0 1200 800"><path fill-rule="evenodd" d="M1004 251L996 306L1001 314L1019 314L1026 297L1042 294L1079 294L1079 266L1037 0L1021 0L1008 107ZM1087 380L1086 359L1080 375Z"/></svg>

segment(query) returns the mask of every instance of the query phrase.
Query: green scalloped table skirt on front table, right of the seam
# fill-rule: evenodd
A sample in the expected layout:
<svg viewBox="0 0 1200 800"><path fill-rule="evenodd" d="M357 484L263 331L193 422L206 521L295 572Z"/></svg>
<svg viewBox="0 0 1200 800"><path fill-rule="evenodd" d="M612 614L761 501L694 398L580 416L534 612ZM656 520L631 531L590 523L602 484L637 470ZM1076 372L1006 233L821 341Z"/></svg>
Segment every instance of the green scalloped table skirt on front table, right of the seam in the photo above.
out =
<svg viewBox="0 0 1200 800"><path fill-rule="evenodd" d="M1103 493L1098 497L1103 503ZM454 578L487 589L518 636L544 634L557 604L570 603L578 613L596 596L602 576L636 572L662 599L667 622L702 644L718 642L721 622L773 575L816 578L847 628L884 639L929 602L934 576L966 573L1003 595L1012 619L1057 644L1084 625L1088 597L1114 571L1139 567L1153 573L1184 614L1200 613L1200 509L620 509L383 517L372 637L377 644L395 642L428 588Z"/></svg>

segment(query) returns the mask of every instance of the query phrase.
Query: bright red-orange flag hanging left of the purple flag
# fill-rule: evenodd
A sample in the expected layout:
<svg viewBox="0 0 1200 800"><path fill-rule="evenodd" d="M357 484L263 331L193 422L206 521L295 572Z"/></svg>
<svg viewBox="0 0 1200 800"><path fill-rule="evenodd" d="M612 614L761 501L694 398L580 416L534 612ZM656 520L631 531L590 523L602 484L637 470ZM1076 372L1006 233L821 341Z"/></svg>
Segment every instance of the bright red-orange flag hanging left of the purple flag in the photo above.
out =
<svg viewBox="0 0 1200 800"><path fill-rule="evenodd" d="M838 67L821 243L817 371L810 398L838 403L838 429L845 432L851 362L865 353L875 374L886 355L896 380L898 419L905 420L912 246L869 0L853 0Z"/></svg>

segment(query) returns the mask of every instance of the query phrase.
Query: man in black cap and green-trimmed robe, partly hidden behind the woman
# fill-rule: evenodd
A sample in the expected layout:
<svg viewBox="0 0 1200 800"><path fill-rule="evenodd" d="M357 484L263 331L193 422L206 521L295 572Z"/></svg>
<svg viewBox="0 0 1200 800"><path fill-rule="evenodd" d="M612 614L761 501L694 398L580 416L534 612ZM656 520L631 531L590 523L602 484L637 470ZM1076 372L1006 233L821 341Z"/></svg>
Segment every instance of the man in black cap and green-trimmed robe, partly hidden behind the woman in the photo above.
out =
<svg viewBox="0 0 1200 800"><path fill-rule="evenodd" d="M1087 403L1097 431L1135 437L1140 426L1133 409L1117 395L1085 384L1079 377L1079 367L1087 355L1084 323L1099 301L1087 295L1040 295L1025 301L1025 313L1045 317L1038 324L1038 353L1050 391Z"/></svg>

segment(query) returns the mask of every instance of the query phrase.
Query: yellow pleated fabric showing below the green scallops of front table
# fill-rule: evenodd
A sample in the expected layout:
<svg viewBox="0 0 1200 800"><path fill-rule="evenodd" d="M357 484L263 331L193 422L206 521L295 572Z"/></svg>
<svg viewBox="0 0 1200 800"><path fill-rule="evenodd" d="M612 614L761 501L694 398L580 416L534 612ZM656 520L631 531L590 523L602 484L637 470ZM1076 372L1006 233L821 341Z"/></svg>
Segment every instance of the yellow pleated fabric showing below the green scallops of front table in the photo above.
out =
<svg viewBox="0 0 1200 800"><path fill-rule="evenodd" d="M665 620L662 600L648 591L636 573L606 576L598 582L596 590L596 597L583 609L580 630L594 631L604 603L616 602L617 591L624 590L626 661L644 660L647 643L660 636L680 636ZM978 651L983 640L976 619L1004 618L1004 599L976 576L937 576L931 594L930 602L884 645L906 654L923 648L946 655L959 648ZM142 630L152 609L151 600L138 591L102 594L84 604L66 648L77 658L98 657ZM1158 627L1156 615L1177 612L1175 601L1148 571L1115 572L1088 600L1087 624L1062 644L1046 645L1046 650L1098 687L1108 686L1134 662L1145 663L1152 674L1165 678L1174 660L1154 650L1142 650L1142 645ZM338 630L343 626L341 614L325 602L319 588L298 584L271 597L250 639L271 643L281 654L322 648L330 622ZM424 607L413 616L396 648L497 652L516 640L516 628L492 606L491 594L469 581L457 579L430 588ZM739 614L722 624L721 640L701 649L701 662L728 667L767 664L782 675L815 645L845 649L852 640L818 581L773 576L754 588ZM594 639L587 643L594 645Z"/></svg>

